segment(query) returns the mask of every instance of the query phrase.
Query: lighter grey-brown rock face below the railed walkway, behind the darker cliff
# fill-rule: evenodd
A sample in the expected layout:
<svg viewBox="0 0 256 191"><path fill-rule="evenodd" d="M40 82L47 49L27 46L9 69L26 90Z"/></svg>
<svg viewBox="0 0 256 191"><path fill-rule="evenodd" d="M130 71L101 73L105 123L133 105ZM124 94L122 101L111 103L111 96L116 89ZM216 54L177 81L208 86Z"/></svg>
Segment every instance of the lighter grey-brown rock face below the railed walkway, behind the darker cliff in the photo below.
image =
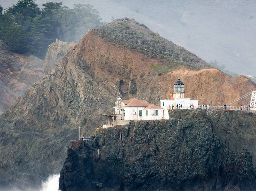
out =
<svg viewBox="0 0 256 191"><path fill-rule="evenodd" d="M233 110L175 110L170 119L208 120L212 131L227 148L239 155L242 149L248 150L256 169L256 115L252 112Z"/></svg>

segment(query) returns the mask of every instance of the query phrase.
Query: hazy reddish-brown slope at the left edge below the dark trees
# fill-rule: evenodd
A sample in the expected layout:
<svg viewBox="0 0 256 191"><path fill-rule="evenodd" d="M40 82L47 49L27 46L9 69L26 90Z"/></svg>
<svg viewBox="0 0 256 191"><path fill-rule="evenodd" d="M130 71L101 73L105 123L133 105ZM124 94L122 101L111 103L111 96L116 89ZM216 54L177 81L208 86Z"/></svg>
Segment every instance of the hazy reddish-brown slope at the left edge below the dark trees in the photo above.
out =
<svg viewBox="0 0 256 191"><path fill-rule="evenodd" d="M13 53L0 40L0 114L43 76L43 60Z"/></svg>

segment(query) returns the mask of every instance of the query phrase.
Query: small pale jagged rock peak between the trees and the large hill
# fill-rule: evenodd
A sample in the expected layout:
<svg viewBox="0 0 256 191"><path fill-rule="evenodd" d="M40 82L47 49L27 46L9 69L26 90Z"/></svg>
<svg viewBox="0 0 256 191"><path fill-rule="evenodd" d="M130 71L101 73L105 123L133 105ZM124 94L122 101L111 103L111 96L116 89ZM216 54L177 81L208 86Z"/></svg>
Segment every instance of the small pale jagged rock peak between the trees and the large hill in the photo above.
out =
<svg viewBox="0 0 256 191"><path fill-rule="evenodd" d="M63 42L58 39L56 39L56 42L49 45L43 63L44 73L46 75L51 74L54 68L61 62L63 56L75 45L74 42Z"/></svg>

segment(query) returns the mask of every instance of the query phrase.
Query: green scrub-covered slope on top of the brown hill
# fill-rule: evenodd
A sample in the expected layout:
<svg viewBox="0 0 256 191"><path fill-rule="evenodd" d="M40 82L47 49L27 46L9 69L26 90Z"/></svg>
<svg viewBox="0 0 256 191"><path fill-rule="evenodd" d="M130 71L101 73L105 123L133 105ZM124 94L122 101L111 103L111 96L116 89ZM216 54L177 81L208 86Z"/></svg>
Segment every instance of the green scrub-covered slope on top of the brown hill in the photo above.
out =
<svg viewBox="0 0 256 191"><path fill-rule="evenodd" d="M159 73L162 74L182 66L195 69L212 67L195 54L162 38L158 33L152 32L134 19L115 19L111 23L93 28L91 32L98 34L106 41L129 49L137 49L148 57L164 59L165 64L157 66Z"/></svg>

